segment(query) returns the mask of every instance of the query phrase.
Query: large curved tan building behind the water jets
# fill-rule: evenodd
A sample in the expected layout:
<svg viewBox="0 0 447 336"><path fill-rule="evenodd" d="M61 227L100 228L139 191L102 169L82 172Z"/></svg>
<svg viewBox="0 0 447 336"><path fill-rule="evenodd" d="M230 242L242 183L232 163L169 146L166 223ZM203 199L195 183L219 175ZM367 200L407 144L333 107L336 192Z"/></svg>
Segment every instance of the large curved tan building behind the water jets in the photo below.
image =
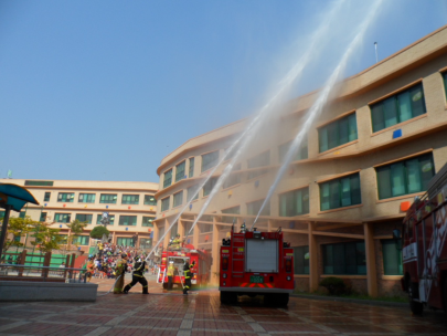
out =
<svg viewBox="0 0 447 336"><path fill-rule="evenodd" d="M391 233L447 161L446 92L447 27L339 85L256 223L286 232L295 251L297 290L315 291L323 277L339 276L372 296L401 294L402 260ZM212 253L213 281L233 219L253 222L317 95L278 108L187 238ZM247 122L194 137L161 160L155 241ZM190 230L228 162L201 188L164 245L171 235Z"/></svg>

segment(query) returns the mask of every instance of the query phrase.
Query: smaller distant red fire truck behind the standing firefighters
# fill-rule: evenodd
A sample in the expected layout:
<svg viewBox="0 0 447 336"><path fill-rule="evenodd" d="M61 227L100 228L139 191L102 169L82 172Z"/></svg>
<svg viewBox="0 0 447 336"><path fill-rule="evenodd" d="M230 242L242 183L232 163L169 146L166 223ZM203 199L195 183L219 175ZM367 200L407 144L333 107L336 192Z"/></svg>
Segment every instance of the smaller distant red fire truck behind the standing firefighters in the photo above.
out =
<svg viewBox="0 0 447 336"><path fill-rule="evenodd" d="M181 287L184 284L183 265L185 261L190 264L195 261L195 266L192 269L192 273L194 273L191 279L192 287L205 286L211 279L211 255L205 250L195 250L191 244L184 244L179 249L168 248L162 251L157 283L162 283L163 288L168 288L167 271L169 263L172 262L175 267L173 284Z"/></svg>

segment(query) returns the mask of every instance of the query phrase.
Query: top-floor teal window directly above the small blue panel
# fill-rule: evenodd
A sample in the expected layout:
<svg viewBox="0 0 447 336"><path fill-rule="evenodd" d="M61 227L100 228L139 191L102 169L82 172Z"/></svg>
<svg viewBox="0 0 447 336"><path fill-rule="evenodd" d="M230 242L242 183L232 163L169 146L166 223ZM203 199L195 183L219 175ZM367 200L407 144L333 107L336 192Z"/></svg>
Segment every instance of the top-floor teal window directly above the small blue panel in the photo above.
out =
<svg viewBox="0 0 447 336"><path fill-rule="evenodd" d="M371 105L373 132L391 127L426 113L424 90L417 84Z"/></svg>

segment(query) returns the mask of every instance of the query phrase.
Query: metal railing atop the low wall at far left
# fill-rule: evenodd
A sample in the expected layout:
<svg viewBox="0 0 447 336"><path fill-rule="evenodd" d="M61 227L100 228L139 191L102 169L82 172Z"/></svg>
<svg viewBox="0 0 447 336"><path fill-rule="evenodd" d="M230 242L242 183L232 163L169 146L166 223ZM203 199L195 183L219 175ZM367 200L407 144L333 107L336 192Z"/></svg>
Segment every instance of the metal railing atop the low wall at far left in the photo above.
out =
<svg viewBox="0 0 447 336"><path fill-rule="evenodd" d="M26 271L26 272L24 272ZM85 283L86 270L61 266L25 266L0 264L0 279L11 281L54 281L66 283Z"/></svg>

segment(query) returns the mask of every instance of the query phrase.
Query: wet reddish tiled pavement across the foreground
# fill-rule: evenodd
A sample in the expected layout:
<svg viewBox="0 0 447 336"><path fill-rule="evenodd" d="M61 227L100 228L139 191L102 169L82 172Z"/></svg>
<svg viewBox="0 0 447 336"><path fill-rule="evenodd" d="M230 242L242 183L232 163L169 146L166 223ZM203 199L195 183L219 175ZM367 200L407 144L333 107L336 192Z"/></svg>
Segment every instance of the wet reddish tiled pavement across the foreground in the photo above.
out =
<svg viewBox="0 0 447 336"><path fill-rule="evenodd" d="M152 291L108 294L95 303L2 303L1 335L447 335L447 317L296 297L284 309L248 298L228 306L221 305L217 291L188 296Z"/></svg>

